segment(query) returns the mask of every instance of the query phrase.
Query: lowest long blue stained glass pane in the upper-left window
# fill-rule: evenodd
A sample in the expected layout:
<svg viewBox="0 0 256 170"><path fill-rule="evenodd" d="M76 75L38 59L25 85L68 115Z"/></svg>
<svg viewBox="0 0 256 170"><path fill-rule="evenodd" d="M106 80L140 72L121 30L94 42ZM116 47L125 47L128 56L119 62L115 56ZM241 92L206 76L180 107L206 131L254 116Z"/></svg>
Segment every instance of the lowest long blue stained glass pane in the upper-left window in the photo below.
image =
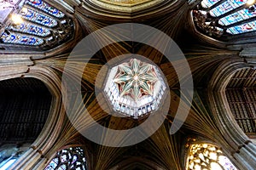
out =
<svg viewBox="0 0 256 170"><path fill-rule="evenodd" d="M22 34L16 34L14 32L9 32L9 34L4 32L0 37L0 39L6 43L15 43L15 44L31 45L31 46L38 46L44 43L44 40L41 38L25 36Z"/></svg>

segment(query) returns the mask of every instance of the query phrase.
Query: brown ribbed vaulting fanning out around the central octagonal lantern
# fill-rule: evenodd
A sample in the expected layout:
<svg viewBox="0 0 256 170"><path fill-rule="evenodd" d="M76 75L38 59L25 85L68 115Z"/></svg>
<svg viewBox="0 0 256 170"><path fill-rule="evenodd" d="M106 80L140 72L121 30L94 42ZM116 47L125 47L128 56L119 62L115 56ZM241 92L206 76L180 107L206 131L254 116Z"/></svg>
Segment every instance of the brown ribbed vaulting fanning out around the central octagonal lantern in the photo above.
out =
<svg viewBox="0 0 256 170"><path fill-rule="evenodd" d="M245 44L236 44L236 47L232 46L232 48L230 48L230 46L227 46L224 42L215 41L195 31L194 27L191 25L191 21L193 20L191 20L190 9L193 8L193 5L190 4L191 6L189 6L186 1L162 1L154 6L154 8L143 8L142 11L135 12L134 14L127 14L124 11L120 12L113 8L98 8L99 6L96 6L96 3L93 2L96 1L71 0L63 3L62 1L49 2L52 5L61 4L61 8L67 9L70 15L73 16L74 22L76 23L73 41L63 43L53 50L45 51L44 54L30 53L29 56L23 56L23 58L21 57L22 53L15 53L15 51L9 52L9 60L4 58L5 53L0 54L7 63L0 72L2 79L20 76L40 78L44 76L44 82L48 83L51 93L55 94L56 103L52 106L56 109L53 108L49 126L46 128L49 133L44 134L46 136L44 142L34 145L33 150L30 152L31 155L29 158L33 158L29 160L30 163L26 163L26 160L29 158L24 158L22 161L23 164L20 164L20 168L24 166L26 168L35 167L44 169L49 161L55 157L57 151L66 146L80 145L87 149L85 150L85 156L87 162L90 162L88 165L89 169L106 170L111 168L115 169L114 167L117 166L120 166L120 168L123 167L122 169L156 169L157 167L162 169L185 169L185 161L187 160L186 152L188 151L189 144L192 144L191 141L200 142L202 140L210 141L211 144L221 147L224 154L230 158L230 161L232 161L236 167L241 169L253 167L255 161L250 160L248 157L255 156L255 153L253 152L253 155L253 153L248 150L254 150L255 146L252 146L253 144L247 137L241 135L241 138L235 138L234 136L236 135L234 134L237 133L229 133L230 138L227 139L226 133L231 128L227 129L227 127L224 126L225 124L222 124L228 124L228 122L224 122L224 119L218 119L219 115L226 116L226 111L221 107L223 106L223 103L221 103L223 100L221 100L222 95L220 93L223 92L220 88L227 85L228 82L224 79L225 77L221 76L225 76L225 74L230 76L230 72L232 71L236 71L242 67L249 67L239 56L239 49L244 47ZM97 2L109 3L107 0ZM145 4L146 3L148 3L148 1L145 2ZM120 4L112 5L121 6ZM136 3L134 5L137 6ZM187 100L189 93L185 91L183 94L185 98L183 100L180 98L181 90L177 73L172 63L166 59L166 56L160 54L158 50L138 42L112 43L100 49L91 59L86 58L86 56L89 56L90 52L83 56L69 56L75 44L91 32L99 30L104 26L131 21L154 26L154 28L163 31L177 42L186 57L186 59L173 61L178 65L178 70L183 71L184 63L189 63L195 88L188 89L188 91L194 91L193 102L189 116L184 122L183 127L173 135L169 134L169 130L173 124L174 116L176 116L177 107L178 105L182 105L183 111L186 111L185 109L189 107ZM117 34L118 33L119 32L117 32ZM96 36L102 37L106 41L110 41L111 38L102 34ZM152 41L155 40L152 39ZM145 118L134 120L129 117L120 118L108 115L108 113L101 108L96 99L96 77L102 69L102 66L119 55L130 53L140 54L151 59L163 72L167 80L167 85L170 88L170 110L168 111L165 122L160 128L140 144L124 148L94 144L88 141L88 139L85 139L78 130L87 131L91 127L95 127L96 122L109 129L124 130L137 127L145 121ZM65 67L67 58L70 63ZM17 75L15 75L14 72L9 72L10 65L15 65L12 59L26 59L27 61L26 64L24 64L25 66L23 65L25 68L23 68L20 66L23 63L19 60L19 65L16 66ZM86 59L87 63L85 68L79 66L82 64L83 59ZM237 60L241 62L241 65L236 66L236 64L234 64ZM224 63L229 64L224 65ZM222 66L224 66L224 68L222 68ZM79 107L71 105L71 109L75 111L72 117L65 115L61 100L61 77L64 68L70 80L73 80L73 77L79 76L79 73L83 73L81 88L72 89L71 92L69 92L75 97L75 94L79 92L78 90L81 90L84 99L83 102L79 103ZM2 69L2 67L0 69ZM187 80L187 76L188 73L183 71L183 81ZM244 76L245 75L241 75L239 77ZM225 80L224 82L222 81L223 79ZM212 84L210 84L210 81L212 81ZM78 82L73 81L73 83ZM221 84L221 86L214 86L214 84ZM99 99L101 99L102 96L99 97ZM227 102L225 104L228 105ZM88 115L84 116L84 105L93 118L93 121L91 121ZM221 113L219 113L219 111ZM68 118L72 119L73 124ZM79 129L76 129L74 125L75 127L79 127ZM143 130L142 133L144 133ZM53 138L51 138L51 135ZM99 135L101 139L104 140L105 135L108 135L108 130L103 134L92 133L91 135ZM41 139L42 137L39 136L39 138ZM113 142L123 142L125 139L129 139L129 137L120 139L117 136L113 136L112 139ZM250 148L248 149L248 147ZM247 152L244 150L251 155L245 154ZM37 154L32 155L33 151L37 152ZM244 151L242 152L243 155L239 154L240 151ZM247 155L247 157L242 157L245 155ZM131 162L131 160L135 162ZM246 161L246 163L243 163L244 161ZM129 162L131 162L131 165L128 165ZM117 167L117 169L119 168Z"/></svg>

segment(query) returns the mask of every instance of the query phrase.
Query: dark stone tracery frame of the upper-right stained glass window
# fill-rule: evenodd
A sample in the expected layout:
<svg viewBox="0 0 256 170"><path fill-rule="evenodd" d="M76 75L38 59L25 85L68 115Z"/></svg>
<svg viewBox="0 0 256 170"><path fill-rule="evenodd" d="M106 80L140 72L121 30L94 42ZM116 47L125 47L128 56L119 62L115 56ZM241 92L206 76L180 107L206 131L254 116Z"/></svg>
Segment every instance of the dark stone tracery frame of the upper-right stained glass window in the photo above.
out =
<svg viewBox="0 0 256 170"><path fill-rule="evenodd" d="M212 9L218 8L219 5L228 2L229 0L216 0L216 3L212 3L212 5L204 5L202 2L212 2L212 0L201 0L195 3L195 8L192 9L192 20L195 26L195 29L197 31L200 31L202 34L213 37L214 39L224 41L224 42L233 42L238 39L245 40L248 37L255 37L256 33L256 2L252 5L248 5L247 2L243 2L243 4L236 4L236 8L229 9L228 12L224 14L220 14L218 16L212 16ZM236 3L236 2L235 2ZM224 20L224 18L228 17L231 14L235 14L236 12L241 12L241 10L249 10L249 8L255 8L255 11L253 12L253 16L249 16L247 14L247 17L245 19L239 19L243 16L240 14L238 17L237 22L233 22L228 26L224 26L220 24L220 20ZM248 25L248 23L253 22L253 31L243 31L241 33L235 34L235 33L229 33L230 30L236 30L231 29L234 26L242 26L242 25ZM249 25L248 25L249 26ZM237 31L237 30L236 30Z"/></svg>

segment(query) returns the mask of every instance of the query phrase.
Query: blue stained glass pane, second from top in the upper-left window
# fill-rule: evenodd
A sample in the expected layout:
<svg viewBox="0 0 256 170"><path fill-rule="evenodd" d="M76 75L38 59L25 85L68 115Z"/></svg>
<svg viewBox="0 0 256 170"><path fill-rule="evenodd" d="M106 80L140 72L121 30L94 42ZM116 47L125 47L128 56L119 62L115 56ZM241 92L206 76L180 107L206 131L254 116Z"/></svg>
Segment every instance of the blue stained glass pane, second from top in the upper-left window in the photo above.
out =
<svg viewBox="0 0 256 170"><path fill-rule="evenodd" d="M20 10L20 14L24 19L31 20L32 22L41 24L43 26L54 27L58 24L56 20L44 14L40 14L30 8L23 8L22 10Z"/></svg>

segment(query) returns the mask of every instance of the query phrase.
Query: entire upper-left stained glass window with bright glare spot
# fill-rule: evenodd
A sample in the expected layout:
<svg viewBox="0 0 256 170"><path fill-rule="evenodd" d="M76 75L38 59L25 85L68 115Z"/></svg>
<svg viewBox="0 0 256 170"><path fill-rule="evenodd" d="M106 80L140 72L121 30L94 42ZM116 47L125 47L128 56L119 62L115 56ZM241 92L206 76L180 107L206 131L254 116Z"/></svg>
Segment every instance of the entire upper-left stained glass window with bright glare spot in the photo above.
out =
<svg viewBox="0 0 256 170"><path fill-rule="evenodd" d="M4 17L0 20L1 43L52 48L72 37L73 21L49 3L43 0L3 1L7 2L12 6L0 9Z"/></svg>

